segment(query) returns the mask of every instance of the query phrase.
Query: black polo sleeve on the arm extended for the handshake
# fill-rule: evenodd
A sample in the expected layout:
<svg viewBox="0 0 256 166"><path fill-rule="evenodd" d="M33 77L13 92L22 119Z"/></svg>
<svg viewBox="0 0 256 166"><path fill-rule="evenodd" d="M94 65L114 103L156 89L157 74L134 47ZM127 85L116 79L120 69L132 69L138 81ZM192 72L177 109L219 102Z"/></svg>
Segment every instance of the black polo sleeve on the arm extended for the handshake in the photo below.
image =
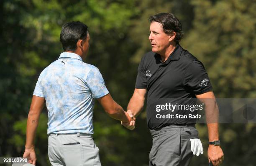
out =
<svg viewBox="0 0 256 166"><path fill-rule="evenodd" d="M145 56L143 56L139 66L138 66L138 74L137 74L136 84L135 84L136 89L146 89L147 88L146 69L143 65L144 59L145 59Z"/></svg>

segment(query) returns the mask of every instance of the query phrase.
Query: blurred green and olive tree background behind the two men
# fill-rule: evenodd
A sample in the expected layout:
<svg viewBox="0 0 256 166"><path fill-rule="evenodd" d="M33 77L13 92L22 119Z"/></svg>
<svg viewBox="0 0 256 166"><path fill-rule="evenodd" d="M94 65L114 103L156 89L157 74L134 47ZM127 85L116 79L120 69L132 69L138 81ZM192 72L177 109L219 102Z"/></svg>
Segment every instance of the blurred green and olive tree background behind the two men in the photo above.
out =
<svg viewBox="0 0 256 166"><path fill-rule="evenodd" d="M0 156L23 155L33 90L41 71L63 51L64 23L89 26L85 62L100 69L114 100L126 109L138 63L151 50L148 17L160 12L181 21L180 44L203 62L217 98L256 98L255 0L0 0ZM36 135L37 166L50 166L47 116L45 107ZM152 140L145 109L129 131L96 102L94 128L102 166L148 165ZM207 127L197 129L205 153L191 166L206 166ZM256 124L220 124L219 132L223 166L256 165Z"/></svg>

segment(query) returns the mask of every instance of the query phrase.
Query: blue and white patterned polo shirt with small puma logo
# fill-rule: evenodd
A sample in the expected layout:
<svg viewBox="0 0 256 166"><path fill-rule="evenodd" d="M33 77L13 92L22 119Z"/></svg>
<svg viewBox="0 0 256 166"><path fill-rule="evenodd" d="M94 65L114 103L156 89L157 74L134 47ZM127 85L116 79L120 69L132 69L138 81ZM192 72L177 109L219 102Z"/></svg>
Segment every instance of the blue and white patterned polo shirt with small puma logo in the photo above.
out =
<svg viewBox="0 0 256 166"><path fill-rule="evenodd" d="M77 54L64 52L41 72L33 95L46 100L47 134L93 134L93 98L108 93L97 67L84 63Z"/></svg>

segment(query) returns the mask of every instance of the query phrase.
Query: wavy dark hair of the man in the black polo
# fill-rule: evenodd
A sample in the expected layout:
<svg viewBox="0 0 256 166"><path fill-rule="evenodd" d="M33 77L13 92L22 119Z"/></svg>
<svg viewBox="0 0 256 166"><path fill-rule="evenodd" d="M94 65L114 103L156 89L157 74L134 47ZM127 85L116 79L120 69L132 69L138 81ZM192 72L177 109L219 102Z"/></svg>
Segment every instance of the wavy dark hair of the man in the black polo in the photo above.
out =
<svg viewBox="0 0 256 166"><path fill-rule="evenodd" d="M161 23L163 26L163 31L165 33L176 32L176 37L174 41L179 42L183 36L182 25L177 17L172 13L158 13L149 17L150 23L156 21Z"/></svg>

